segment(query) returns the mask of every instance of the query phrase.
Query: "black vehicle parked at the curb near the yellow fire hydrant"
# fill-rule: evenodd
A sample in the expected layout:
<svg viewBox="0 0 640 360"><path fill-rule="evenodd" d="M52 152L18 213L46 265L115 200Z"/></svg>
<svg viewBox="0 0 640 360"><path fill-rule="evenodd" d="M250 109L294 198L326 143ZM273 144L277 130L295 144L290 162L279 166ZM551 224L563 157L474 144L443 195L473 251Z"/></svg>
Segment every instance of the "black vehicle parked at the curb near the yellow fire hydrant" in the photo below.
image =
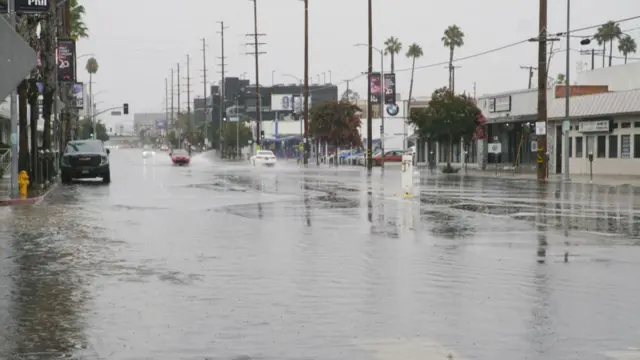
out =
<svg viewBox="0 0 640 360"><path fill-rule="evenodd" d="M73 179L102 178L102 182L111 182L109 170L109 149L102 140L73 140L67 143L60 161L63 184Z"/></svg>

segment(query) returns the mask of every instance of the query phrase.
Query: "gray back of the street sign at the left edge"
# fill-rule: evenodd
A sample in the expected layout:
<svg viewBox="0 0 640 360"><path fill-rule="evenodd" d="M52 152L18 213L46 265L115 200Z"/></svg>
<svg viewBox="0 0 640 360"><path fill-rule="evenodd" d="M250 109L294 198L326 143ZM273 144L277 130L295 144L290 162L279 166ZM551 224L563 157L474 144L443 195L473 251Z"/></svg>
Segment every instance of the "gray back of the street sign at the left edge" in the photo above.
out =
<svg viewBox="0 0 640 360"><path fill-rule="evenodd" d="M0 99L6 98L36 67L37 54L0 16Z"/></svg>

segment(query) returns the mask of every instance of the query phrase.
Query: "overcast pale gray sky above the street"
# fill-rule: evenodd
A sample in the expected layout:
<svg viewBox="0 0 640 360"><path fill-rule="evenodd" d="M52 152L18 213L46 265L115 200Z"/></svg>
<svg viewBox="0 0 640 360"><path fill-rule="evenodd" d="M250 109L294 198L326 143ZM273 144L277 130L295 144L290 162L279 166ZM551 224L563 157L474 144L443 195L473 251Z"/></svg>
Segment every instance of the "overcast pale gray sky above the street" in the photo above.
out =
<svg viewBox="0 0 640 360"><path fill-rule="evenodd" d="M78 43L78 53L96 55L100 71L94 77L94 93L98 108L128 102L132 112L164 112L165 78L177 63L181 76L186 78L186 56L191 61L192 98L202 96L203 59L201 38L207 47L208 79L211 84L220 78L220 36L217 21L224 21L226 29L226 64L228 76L246 72L254 81L253 57L246 52L245 34L253 32L253 3L248 0L80 0L85 6L85 22L90 38ZM366 0L309 0L310 74L331 71L332 80L344 91L344 80L356 78L366 71L367 49L354 47L367 42ZM549 30L566 29L566 1L549 1ZM448 50L440 41L444 29L458 25L465 33L465 45L457 50L457 57L469 56L498 48L525 38L536 36L538 1L513 0L450 0L424 2L418 0L373 0L374 43L383 47L389 36L396 36L404 48L396 59L398 92L408 95L411 61L404 56L407 47L416 42L422 46L424 57L416 66L445 62ZM619 20L640 15L638 0L574 0L572 28L597 25L607 20ZM261 49L260 82L271 84L272 71L276 83L292 80L282 74L302 77L304 51L304 6L299 0L258 0L258 31L265 33L267 43ZM640 41L636 29L640 21L621 24L623 30ZM589 34L592 31L581 32ZM556 48L565 48L565 43ZM580 47L579 39L572 48ZM615 47L615 46L614 46ZM537 48L527 43L491 54L464 60L456 72L456 89L477 94L522 89L527 86L527 73L521 65L535 66ZM638 55L640 57L640 55ZM579 61L589 57L572 53L572 70ZM78 66L79 78L88 81L84 61ZM614 60L621 63L622 60ZM596 61L597 64L601 63ZM389 58L385 59L388 68ZM374 55L374 67L379 68L379 56ZM550 74L564 72L564 53L554 56ZM416 70L414 94L427 96L435 88L447 84L445 65ZM182 84L182 102L186 108L186 80ZM351 82L351 87L366 97L364 77ZM364 95L364 96L362 96ZM125 118L105 119L108 123L126 121Z"/></svg>

